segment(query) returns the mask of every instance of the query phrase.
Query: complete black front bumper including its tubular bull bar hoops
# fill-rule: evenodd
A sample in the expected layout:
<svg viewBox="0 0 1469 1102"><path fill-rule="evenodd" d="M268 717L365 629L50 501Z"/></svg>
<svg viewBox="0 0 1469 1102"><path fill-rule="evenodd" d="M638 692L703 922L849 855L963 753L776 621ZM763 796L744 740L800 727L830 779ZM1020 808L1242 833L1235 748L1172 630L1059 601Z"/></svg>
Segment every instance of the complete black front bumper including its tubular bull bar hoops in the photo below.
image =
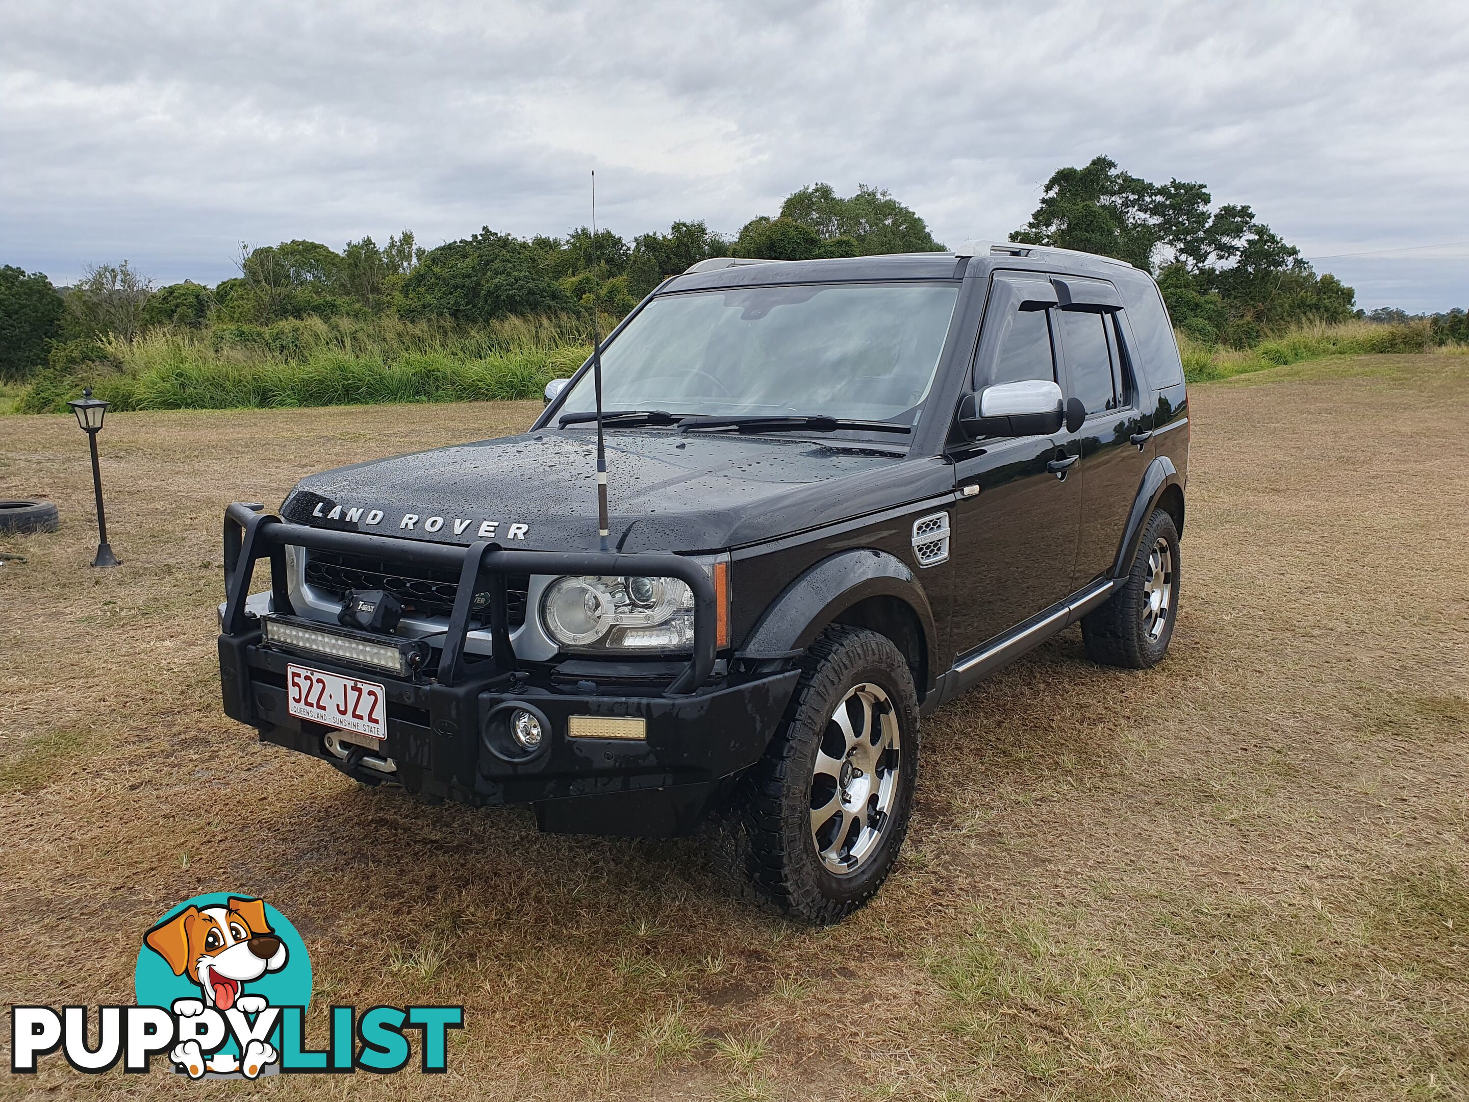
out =
<svg viewBox="0 0 1469 1102"><path fill-rule="evenodd" d="M419 554L423 545L320 532L247 514L242 507L231 510L226 516L226 610L219 636L225 713L256 727L261 741L345 767L363 779L373 777L354 771L351 761L344 763L329 748L329 727L289 714L289 663L385 686L386 739L375 754L392 761L394 771L385 776L404 788L469 804L530 804L544 830L635 836L693 830L729 780L764 754L799 677L798 670L712 677L711 586L701 567L689 564L685 569L673 555L608 554L588 570L674 573L673 567L679 567L690 582L698 601L696 654L661 695L614 695L617 689L598 686L595 677L591 683L579 680L574 691L569 691L536 671L517 669L508 641L491 661L464 661L461 651L455 654L455 633L461 645L469 626L467 607L455 610L460 614L452 617L435 677L392 677L319 655L289 652L264 644L259 619L248 614L245 597L250 564L256 558L272 560L273 599L281 611L285 586L281 585L284 561L278 548L286 542L373 541L376 551L383 552L383 545L391 544L395 547L386 550L404 558ZM231 522L238 526L234 541ZM464 592L473 592L473 572L495 569L497 554L511 563L504 569L523 569L520 560L538 554L504 552L479 544L472 548L436 545L426 552L464 557L466 575L460 586ZM554 570L558 564L549 560L558 555L544 554L545 567ZM567 572L580 569L585 567ZM507 761L492 752L491 713L507 702L532 705L549 720L545 745L530 760ZM573 716L640 717L646 738L573 738L567 730Z"/></svg>

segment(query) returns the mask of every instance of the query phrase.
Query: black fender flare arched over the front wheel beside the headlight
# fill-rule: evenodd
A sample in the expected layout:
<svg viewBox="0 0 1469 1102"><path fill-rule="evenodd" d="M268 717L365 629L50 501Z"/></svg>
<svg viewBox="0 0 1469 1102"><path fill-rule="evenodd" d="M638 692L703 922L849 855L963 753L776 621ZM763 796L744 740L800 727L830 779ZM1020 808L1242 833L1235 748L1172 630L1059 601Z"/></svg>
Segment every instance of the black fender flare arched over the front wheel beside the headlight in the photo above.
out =
<svg viewBox="0 0 1469 1102"><path fill-rule="evenodd" d="M842 613L871 597L893 597L914 611L931 674L937 629L928 597L906 563L873 548L839 551L808 567L771 602L737 655L752 661L792 658Z"/></svg>

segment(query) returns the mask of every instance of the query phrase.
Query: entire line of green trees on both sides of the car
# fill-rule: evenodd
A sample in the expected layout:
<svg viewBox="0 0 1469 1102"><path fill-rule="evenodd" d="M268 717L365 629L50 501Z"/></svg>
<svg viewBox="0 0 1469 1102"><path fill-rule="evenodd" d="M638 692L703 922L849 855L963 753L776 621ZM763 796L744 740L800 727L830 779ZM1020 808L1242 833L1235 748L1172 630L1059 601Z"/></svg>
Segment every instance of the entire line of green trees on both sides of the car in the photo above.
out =
<svg viewBox="0 0 1469 1102"><path fill-rule="evenodd" d="M1206 344L1243 347L1293 322L1362 317L1354 292L1318 275L1243 204L1213 204L1199 182L1152 184L1109 157L1059 169L1011 241L1127 260L1152 272L1174 323ZM71 288L0 267L0 378L84 361L103 335L131 341L151 326L267 326L292 317L444 319L482 326L508 316L621 316L670 275L714 256L770 260L942 251L912 209L889 191L829 184L792 192L779 213L721 235L704 222L630 241L586 226L520 238L485 226L436 248L404 229L339 251L317 241L241 245L238 275L216 287L154 287L126 260L90 267ZM1400 311L1398 311L1400 313ZM1388 320L1375 311L1372 320ZM1469 339L1463 310L1434 322L1440 339Z"/></svg>

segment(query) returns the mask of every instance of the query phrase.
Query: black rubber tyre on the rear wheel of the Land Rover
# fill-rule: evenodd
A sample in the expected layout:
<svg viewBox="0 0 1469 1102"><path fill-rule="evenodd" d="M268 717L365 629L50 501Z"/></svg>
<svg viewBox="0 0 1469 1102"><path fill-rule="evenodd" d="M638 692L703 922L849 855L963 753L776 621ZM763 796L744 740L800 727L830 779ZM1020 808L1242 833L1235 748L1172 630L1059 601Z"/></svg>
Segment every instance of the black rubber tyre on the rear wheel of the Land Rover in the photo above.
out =
<svg viewBox="0 0 1469 1102"><path fill-rule="evenodd" d="M1159 572L1155 569L1153 552L1166 548L1165 570L1165 619L1153 630L1156 611L1150 611L1150 591L1158 588ZM1153 510L1137 544L1133 569L1122 588L1100 608L1081 619L1081 639L1087 657L1102 666L1121 666L1128 670L1146 670L1156 666L1168 651L1174 638L1174 623L1178 619L1178 526L1162 508Z"/></svg>

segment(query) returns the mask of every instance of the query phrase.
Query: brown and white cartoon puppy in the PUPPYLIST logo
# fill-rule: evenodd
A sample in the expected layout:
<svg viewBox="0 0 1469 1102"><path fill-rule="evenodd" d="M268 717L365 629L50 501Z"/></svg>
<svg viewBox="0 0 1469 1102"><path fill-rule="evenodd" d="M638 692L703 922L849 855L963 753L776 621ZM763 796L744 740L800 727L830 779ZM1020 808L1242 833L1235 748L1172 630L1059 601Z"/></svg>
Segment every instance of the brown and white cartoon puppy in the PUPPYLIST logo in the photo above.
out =
<svg viewBox="0 0 1469 1102"><path fill-rule="evenodd" d="M244 986L266 973L285 967L285 943L266 921L266 905L260 899L229 896L223 907L198 908L190 905L166 923L159 923L144 936L144 943L159 954L175 976L188 976L197 983L203 999L176 999L173 1012L181 1018L197 1017L206 1008L226 1012L259 1014L267 1002L260 995L247 995ZM204 1058L197 1040L181 1042L169 1058L191 1078L206 1071L231 1074L242 1071L254 1078L279 1059L275 1048L264 1040L251 1040L239 1056L219 1054Z"/></svg>

